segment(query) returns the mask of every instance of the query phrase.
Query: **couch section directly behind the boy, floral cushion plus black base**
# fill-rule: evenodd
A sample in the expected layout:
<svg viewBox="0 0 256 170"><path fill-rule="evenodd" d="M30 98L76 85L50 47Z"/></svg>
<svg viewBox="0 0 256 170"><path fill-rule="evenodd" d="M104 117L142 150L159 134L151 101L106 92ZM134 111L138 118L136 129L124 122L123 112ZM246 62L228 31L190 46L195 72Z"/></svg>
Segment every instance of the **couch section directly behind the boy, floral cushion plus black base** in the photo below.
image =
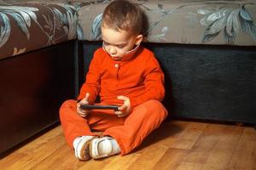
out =
<svg viewBox="0 0 256 170"><path fill-rule="evenodd" d="M255 1L133 2L145 14L143 45L154 51L166 75L168 118L255 124ZM102 46L108 3L78 2L84 73Z"/></svg>

